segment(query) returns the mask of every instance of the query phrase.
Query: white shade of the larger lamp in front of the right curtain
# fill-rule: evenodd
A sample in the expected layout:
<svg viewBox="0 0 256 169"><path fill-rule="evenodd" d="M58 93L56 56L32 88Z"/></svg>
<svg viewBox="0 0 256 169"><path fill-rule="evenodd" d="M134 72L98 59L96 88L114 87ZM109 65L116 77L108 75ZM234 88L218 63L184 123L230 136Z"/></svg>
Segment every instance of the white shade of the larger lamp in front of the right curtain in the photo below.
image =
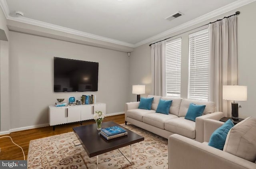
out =
<svg viewBox="0 0 256 169"><path fill-rule="evenodd" d="M246 101L247 86L224 85L222 96L224 100Z"/></svg>

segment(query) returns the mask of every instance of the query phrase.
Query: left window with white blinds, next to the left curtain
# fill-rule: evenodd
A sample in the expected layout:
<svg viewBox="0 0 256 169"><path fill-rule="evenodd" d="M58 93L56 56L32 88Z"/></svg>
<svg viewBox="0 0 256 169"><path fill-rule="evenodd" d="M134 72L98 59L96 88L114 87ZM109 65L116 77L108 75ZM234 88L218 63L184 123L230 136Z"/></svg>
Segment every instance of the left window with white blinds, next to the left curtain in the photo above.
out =
<svg viewBox="0 0 256 169"><path fill-rule="evenodd" d="M180 97L181 37L166 42L166 96Z"/></svg>

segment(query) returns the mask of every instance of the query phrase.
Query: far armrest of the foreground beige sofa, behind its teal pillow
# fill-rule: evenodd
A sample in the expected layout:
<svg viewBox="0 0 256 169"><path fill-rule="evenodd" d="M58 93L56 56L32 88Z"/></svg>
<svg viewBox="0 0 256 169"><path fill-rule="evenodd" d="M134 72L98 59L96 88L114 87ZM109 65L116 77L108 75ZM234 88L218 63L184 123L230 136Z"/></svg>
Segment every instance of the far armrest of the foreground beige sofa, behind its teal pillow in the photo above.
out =
<svg viewBox="0 0 256 169"><path fill-rule="evenodd" d="M218 120L205 119L204 120L204 141L209 142L212 133L222 126L224 122L220 122Z"/></svg>

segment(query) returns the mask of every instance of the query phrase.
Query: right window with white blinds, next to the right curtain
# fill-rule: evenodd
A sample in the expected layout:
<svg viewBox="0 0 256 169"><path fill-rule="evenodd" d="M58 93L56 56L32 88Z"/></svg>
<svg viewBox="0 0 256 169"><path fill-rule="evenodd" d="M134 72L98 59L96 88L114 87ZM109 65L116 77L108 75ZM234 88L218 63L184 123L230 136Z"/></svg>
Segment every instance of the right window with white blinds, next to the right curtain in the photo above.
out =
<svg viewBox="0 0 256 169"><path fill-rule="evenodd" d="M188 98L208 100L209 89L208 29L189 35Z"/></svg>

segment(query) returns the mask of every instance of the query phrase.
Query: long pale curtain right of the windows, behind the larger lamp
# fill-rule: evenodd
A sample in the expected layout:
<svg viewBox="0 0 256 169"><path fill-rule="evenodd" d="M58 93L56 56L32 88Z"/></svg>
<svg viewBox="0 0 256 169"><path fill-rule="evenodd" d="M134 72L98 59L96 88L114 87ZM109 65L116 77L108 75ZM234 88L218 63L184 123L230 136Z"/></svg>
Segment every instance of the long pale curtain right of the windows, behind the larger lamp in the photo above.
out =
<svg viewBox="0 0 256 169"><path fill-rule="evenodd" d="M223 85L237 85L236 16L209 24L210 101L216 111L230 115L230 102L222 100Z"/></svg>

